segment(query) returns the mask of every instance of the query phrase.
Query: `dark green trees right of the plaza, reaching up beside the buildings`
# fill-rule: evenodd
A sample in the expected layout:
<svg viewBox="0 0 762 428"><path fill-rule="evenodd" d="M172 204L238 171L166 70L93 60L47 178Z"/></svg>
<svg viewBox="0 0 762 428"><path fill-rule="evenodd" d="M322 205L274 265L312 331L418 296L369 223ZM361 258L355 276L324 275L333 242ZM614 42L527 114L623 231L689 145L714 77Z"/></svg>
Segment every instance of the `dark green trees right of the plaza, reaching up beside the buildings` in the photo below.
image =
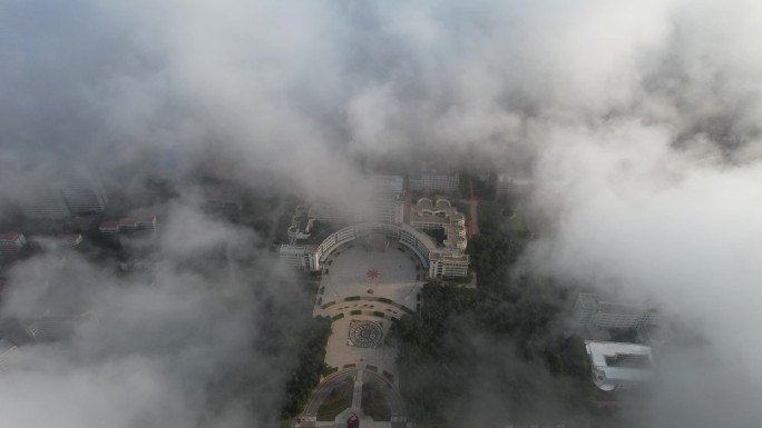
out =
<svg viewBox="0 0 762 428"><path fill-rule="evenodd" d="M593 394L584 341L560 322L566 290L511 271L527 240L486 220L468 250L478 287L429 282L392 327L406 402L418 421L565 424Z"/></svg>

